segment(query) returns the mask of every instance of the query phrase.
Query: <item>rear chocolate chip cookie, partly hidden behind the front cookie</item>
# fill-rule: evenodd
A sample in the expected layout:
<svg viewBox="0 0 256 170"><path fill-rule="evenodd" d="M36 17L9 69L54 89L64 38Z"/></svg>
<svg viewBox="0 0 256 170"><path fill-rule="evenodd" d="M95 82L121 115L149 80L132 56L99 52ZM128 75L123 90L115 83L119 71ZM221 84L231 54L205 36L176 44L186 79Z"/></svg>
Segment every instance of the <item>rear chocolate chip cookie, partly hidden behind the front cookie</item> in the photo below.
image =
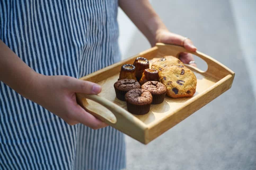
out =
<svg viewBox="0 0 256 170"><path fill-rule="evenodd" d="M156 62L152 63L151 68L156 69L158 72L160 72L164 67L172 64L183 65L183 63L178 58L169 55L169 56L164 56L163 58L160 58Z"/></svg>

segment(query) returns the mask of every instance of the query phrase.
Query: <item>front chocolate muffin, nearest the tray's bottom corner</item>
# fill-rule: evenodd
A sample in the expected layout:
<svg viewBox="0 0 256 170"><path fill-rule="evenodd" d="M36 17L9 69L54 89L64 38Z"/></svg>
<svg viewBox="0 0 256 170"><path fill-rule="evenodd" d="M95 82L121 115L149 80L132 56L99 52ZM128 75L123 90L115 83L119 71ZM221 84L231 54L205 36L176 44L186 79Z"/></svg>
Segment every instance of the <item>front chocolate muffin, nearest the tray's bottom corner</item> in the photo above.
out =
<svg viewBox="0 0 256 170"><path fill-rule="evenodd" d="M127 109L135 115L147 114L152 103L152 95L145 89L132 89L125 95Z"/></svg>

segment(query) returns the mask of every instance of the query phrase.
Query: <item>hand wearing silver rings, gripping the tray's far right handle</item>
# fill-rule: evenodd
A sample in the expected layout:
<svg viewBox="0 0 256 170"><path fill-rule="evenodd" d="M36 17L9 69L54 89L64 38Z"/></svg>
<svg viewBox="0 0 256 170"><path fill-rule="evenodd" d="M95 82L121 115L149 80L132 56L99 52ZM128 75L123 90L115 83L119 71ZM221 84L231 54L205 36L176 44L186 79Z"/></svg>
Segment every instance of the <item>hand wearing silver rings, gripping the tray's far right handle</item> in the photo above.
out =
<svg viewBox="0 0 256 170"><path fill-rule="evenodd" d="M158 30L156 32L156 42L181 45L191 52L196 51L196 47L189 38L174 34L168 30ZM180 53L179 59L186 64L189 64L190 61L194 61L193 55L190 53ZM194 63L191 63L191 65L196 67L196 64Z"/></svg>

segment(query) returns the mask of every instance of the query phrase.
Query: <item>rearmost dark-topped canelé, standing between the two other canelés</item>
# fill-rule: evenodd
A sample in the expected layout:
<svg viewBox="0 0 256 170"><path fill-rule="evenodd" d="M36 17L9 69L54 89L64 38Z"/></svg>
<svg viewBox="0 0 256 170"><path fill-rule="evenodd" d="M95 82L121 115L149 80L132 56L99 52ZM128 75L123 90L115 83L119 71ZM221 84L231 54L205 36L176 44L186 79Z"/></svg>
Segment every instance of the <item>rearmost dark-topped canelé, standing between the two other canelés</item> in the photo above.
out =
<svg viewBox="0 0 256 170"><path fill-rule="evenodd" d="M142 73L145 69L149 68L149 62L147 59L143 57L137 57L133 63L135 66L135 76L137 80L139 81L142 77Z"/></svg>

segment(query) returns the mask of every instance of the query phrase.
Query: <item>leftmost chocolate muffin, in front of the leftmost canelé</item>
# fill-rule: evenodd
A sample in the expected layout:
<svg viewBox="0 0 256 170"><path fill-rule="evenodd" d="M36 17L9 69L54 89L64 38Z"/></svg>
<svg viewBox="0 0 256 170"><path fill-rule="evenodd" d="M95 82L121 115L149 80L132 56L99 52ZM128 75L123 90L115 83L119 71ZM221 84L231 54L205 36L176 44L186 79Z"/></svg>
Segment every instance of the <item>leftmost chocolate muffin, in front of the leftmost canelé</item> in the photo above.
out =
<svg viewBox="0 0 256 170"><path fill-rule="evenodd" d="M140 88L140 83L133 79L121 79L114 83L116 97L125 101L125 93L131 89Z"/></svg>

